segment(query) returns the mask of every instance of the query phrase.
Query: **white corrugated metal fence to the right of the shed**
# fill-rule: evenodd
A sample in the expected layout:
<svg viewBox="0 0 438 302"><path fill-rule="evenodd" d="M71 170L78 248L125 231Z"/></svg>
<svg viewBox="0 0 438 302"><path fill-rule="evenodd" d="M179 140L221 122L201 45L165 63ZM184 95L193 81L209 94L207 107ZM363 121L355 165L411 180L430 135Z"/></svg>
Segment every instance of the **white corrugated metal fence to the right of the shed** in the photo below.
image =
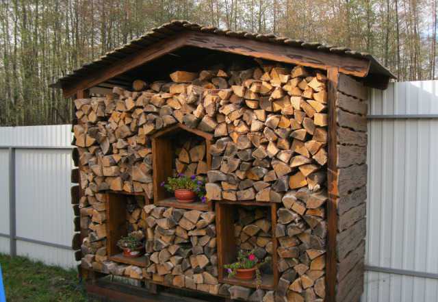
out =
<svg viewBox="0 0 438 302"><path fill-rule="evenodd" d="M372 90L371 116L438 114L438 81L390 84ZM438 301L438 119L390 118L368 123L368 266L408 275L365 276L362 301ZM400 273L400 272L399 272Z"/></svg>

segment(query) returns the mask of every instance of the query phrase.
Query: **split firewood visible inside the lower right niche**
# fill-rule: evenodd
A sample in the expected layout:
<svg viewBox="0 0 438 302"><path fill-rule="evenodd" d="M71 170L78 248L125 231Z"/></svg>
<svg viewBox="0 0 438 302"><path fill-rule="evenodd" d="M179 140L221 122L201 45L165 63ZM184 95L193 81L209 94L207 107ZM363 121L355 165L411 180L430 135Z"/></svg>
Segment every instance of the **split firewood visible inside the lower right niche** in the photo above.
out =
<svg viewBox="0 0 438 302"><path fill-rule="evenodd" d="M254 251L261 262L269 260L274 253L271 226L268 210L239 207L234 223L237 250Z"/></svg>

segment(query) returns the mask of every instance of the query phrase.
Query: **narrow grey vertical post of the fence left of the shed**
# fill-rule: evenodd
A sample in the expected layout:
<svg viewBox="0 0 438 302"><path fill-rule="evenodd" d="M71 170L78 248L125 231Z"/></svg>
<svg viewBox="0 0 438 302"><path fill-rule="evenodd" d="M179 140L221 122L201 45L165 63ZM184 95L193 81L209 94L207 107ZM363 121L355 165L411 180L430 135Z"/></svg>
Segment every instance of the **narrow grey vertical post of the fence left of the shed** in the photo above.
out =
<svg viewBox="0 0 438 302"><path fill-rule="evenodd" d="M9 243L10 255L16 256L16 212L15 212L15 148L9 148Z"/></svg>

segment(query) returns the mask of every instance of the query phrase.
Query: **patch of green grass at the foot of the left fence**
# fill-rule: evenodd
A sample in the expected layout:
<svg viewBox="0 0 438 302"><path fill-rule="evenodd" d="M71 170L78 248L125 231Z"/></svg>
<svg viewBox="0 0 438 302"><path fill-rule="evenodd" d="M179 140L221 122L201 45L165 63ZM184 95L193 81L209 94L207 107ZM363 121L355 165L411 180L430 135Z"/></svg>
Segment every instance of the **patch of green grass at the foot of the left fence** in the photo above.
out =
<svg viewBox="0 0 438 302"><path fill-rule="evenodd" d="M89 301L75 270L0 254L8 302Z"/></svg>

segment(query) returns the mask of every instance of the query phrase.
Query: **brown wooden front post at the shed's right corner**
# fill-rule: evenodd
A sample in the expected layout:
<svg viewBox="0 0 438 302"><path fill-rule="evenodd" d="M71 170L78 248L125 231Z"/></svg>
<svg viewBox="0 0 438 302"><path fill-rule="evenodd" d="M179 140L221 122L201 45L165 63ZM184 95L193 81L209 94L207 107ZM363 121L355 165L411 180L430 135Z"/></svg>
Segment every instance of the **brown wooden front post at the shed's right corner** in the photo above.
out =
<svg viewBox="0 0 438 302"><path fill-rule="evenodd" d="M337 265L336 265L336 236L337 236L337 116L336 98L339 80L339 69L328 68L328 102L329 102L329 159L328 159L328 193L327 203L327 253L326 253L326 301L335 302Z"/></svg>

